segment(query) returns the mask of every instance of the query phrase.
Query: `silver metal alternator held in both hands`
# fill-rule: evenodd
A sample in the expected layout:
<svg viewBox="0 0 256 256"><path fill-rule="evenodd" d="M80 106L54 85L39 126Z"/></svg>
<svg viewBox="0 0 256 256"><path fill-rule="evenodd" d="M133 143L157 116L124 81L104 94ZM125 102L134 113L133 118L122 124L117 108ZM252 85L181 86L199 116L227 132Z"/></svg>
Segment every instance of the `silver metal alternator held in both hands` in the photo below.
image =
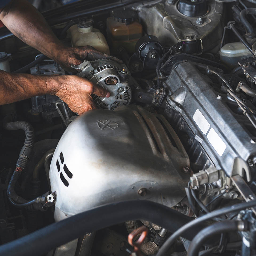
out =
<svg viewBox="0 0 256 256"><path fill-rule="evenodd" d="M101 98L92 95L95 105L102 109L114 110L118 106L127 105L131 102L131 83L127 67L108 59L84 61L78 66L72 66L80 70L77 75L89 79L110 92L109 98Z"/></svg>

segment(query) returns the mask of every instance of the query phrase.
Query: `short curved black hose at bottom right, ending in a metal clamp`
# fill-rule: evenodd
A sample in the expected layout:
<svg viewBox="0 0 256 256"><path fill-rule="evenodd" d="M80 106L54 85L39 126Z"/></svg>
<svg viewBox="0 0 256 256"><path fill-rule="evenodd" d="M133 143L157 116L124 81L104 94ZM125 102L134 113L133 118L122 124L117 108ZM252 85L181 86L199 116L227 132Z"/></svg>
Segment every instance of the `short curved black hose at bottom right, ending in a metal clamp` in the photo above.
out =
<svg viewBox="0 0 256 256"><path fill-rule="evenodd" d="M203 246L204 242L206 242L209 238L220 233L232 231L238 231L237 221L216 222L213 225L206 227L205 229L201 230L191 241L187 251L187 256L198 256L201 246Z"/></svg>

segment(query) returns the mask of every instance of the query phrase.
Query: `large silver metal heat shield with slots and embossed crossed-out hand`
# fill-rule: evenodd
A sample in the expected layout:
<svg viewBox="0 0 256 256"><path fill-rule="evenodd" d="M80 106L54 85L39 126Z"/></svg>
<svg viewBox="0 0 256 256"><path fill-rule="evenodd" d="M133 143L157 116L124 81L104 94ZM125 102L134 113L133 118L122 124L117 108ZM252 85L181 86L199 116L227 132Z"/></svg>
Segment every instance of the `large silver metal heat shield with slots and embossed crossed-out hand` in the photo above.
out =
<svg viewBox="0 0 256 256"><path fill-rule="evenodd" d="M186 151L162 115L135 105L88 111L67 127L53 155L55 220L129 199L172 207L185 196L185 166Z"/></svg>

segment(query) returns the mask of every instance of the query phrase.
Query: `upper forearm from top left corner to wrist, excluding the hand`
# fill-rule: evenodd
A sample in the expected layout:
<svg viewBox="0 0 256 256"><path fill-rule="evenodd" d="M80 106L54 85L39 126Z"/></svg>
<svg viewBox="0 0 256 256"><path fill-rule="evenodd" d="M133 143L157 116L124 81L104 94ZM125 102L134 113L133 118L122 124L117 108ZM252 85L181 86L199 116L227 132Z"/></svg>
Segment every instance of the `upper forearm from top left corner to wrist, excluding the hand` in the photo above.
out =
<svg viewBox="0 0 256 256"><path fill-rule="evenodd" d="M51 59L64 47L43 18L26 0L14 0L0 10L0 20L19 39Z"/></svg>

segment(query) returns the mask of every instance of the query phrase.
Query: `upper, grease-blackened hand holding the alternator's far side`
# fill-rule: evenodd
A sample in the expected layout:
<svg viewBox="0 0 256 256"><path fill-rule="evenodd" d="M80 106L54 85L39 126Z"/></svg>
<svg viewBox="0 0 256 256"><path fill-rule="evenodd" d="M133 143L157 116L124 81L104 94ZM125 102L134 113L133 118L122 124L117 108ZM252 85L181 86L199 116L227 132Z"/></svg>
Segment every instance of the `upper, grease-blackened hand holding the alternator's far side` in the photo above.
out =
<svg viewBox="0 0 256 256"><path fill-rule="evenodd" d="M53 53L55 61L66 71L74 71L71 64L79 65L85 59L94 61L95 59L110 59L119 64L123 63L120 59L110 56L106 53L97 51L92 46L79 46L79 47L59 47Z"/></svg>

